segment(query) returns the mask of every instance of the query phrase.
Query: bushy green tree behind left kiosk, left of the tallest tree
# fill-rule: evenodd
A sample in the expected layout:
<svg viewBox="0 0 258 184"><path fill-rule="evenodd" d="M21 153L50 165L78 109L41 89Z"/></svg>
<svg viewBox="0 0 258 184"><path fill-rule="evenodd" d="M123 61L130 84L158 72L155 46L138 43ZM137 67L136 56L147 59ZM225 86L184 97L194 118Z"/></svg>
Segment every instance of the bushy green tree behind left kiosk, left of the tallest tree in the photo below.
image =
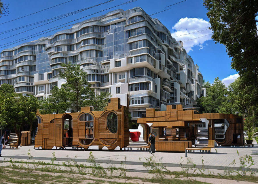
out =
<svg viewBox="0 0 258 184"><path fill-rule="evenodd" d="M40 114L65 113L68 108L71 108L69 91L64 87L59 89L57 86L54 86L51 94L48 98L39 101Z"/></svg>

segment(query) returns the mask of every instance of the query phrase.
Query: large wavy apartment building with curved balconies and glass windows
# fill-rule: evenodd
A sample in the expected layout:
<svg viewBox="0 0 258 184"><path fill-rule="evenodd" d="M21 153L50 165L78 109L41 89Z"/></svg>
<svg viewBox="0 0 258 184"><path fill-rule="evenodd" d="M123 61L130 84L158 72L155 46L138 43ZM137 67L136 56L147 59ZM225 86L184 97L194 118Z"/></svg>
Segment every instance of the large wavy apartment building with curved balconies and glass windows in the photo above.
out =
<svg viewBox="0 0 258 184"><path fill-rule="evenodd" d="M107 91L129 108L132 120L161 104L196 105L205 95L202 74L181 41L140 7L118 9L71 29L1 52L0 84L39 99L51 95L60 63L77 63L96 93Z"/></svg>

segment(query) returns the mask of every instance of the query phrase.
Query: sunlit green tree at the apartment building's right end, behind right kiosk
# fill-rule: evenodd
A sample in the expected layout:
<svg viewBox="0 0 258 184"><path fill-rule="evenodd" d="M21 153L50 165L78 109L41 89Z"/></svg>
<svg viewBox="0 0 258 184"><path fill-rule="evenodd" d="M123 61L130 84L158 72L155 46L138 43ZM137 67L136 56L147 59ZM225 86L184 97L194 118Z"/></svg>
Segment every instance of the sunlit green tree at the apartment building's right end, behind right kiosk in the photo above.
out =
<svg viewBox="0 0 258 184"><path fill-rule="evenodd" d="M219 113L222 103L226 99L227 89L225 85L217 77L213 85L207 82L204 87L206 87L206 96L201 97L198 100L198 104L204 108L204 113Z"/></svg>

